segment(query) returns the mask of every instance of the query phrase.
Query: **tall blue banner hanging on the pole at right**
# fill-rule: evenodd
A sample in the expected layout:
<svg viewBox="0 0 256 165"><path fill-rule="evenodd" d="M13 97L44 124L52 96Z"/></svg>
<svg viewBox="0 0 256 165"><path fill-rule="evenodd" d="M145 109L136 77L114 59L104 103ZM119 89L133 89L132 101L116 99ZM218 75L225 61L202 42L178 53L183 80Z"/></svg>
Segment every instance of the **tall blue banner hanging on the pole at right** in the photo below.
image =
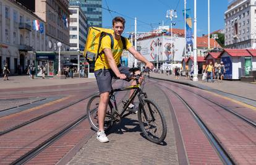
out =
<svg viewBox="0 0 256 165"><path fill-rule="evenodd" d="M184 10L183 16L184 16ZM192 31L192 18L190 15L190 9L186 9L186 49L187 52L191 52L193 48L193 31Z"/></svg>

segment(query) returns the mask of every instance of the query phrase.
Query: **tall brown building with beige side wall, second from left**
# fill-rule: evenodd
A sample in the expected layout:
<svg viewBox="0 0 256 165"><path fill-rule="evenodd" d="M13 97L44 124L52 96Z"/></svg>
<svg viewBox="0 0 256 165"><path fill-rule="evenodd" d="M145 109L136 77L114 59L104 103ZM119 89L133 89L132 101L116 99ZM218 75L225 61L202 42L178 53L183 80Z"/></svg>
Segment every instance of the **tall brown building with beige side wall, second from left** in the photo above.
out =
<svg viewBox="0 0 256 165"><path fill-rule="evenodd" d="M35 0L34 0L35 1ZM69 1L35 1L35 14L46 24L46 51L57 51L57 43L62 43L62 51L69 51Z"/></svg>

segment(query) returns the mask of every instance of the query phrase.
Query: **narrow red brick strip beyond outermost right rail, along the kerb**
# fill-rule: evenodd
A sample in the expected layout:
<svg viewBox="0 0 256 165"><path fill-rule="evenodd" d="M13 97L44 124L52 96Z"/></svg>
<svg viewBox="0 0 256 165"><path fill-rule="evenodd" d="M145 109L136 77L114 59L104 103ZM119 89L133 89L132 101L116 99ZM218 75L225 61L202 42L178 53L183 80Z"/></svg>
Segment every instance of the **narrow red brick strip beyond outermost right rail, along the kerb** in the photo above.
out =
<svg viewBox="0 0 256 165"><path fill-rule="evenodd" d="M169 83L166 83L166 84L169 84ZM187 87L186 85L177 85L175 83L172 83L172 85L174 85L175 87L184 88L186 90L192 91L195 94L198 93L200 96L203 96L204 98L209 98L209 99L215 101L216 103L222 104L226 108L231 108L233 111L241 114L244 117L247 117L251 121L256 121L255 109L251 109L251 108L242 106L241 104L235 103L234 101L231 101L229 99L223 99L220 96L209 93L208 91L205 91L205 90ZM190 94L192 95L192 93L190 93ZM198 96L198 98L200 98L200 96Z"/></svg>

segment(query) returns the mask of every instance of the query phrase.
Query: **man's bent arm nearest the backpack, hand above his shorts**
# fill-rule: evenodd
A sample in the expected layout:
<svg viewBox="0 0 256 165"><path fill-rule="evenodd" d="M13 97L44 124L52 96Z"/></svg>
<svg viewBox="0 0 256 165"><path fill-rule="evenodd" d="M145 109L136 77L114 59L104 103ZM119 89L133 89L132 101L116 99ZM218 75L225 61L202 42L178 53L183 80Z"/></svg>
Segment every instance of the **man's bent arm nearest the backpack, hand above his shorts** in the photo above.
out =
<svg viewBox="0 0 256 165"><path fill-rule="evenodd" d="M114 74L116 74L116 77L119 77L120 79L126 78L126 75L121 74L119 72L117 65L116 65L116 61L114 61L114 57L113 57L111 49L105 48L105 49L103 49L103 51L108 59L108 64L111 67L111 69L113 70Z"/></svg>

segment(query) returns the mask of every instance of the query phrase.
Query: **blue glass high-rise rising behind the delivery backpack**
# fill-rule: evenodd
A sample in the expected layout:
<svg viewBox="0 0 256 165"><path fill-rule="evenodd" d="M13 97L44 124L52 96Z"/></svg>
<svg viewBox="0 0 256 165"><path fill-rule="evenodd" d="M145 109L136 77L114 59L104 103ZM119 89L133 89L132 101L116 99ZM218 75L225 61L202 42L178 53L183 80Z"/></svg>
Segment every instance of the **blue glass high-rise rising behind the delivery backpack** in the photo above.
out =
<svg viewBox="0 0 256 165"><path fill-rule="evenodd" d="M88 25L102 27L102 0L70 0L70 6L80 6L85 13Z"/></svg>

